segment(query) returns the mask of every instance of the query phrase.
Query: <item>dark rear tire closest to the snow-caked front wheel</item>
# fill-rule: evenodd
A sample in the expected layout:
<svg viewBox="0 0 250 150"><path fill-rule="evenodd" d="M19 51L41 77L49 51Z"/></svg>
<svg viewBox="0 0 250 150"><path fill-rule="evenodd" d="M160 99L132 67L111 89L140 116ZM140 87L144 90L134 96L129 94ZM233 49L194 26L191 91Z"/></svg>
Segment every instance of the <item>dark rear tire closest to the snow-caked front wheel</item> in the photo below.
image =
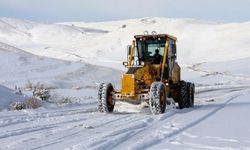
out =
<svg viewBox="0 0 250 150"><path fill-rule="evenodd" d="M179 109L189 107L189 94L188 94L188 85L186 82L181 81L180 87L180 99L178 101Z"/></svg>

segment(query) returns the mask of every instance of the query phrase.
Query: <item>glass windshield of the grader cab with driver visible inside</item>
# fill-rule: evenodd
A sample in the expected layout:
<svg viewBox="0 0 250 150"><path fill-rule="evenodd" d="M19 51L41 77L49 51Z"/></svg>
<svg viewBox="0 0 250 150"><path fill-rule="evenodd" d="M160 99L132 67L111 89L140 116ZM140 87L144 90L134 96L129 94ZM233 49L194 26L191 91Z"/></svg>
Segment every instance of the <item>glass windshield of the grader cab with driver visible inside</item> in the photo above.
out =
<svg viewBox="0 0 250 150"><path fill-rule="evenodd" d="M164 55L165 43L165 39L137 40L139 62L161 63Z"/></svg>

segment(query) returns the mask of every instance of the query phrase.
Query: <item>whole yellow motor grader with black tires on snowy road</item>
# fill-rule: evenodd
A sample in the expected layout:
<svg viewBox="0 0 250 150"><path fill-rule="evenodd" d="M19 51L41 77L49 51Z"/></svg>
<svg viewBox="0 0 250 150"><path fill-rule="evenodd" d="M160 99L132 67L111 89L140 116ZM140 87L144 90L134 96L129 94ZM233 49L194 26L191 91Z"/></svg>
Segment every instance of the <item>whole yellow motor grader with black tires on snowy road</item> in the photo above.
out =
<svg viewBox="0 0 250 150"><path fill-rule="evenodd" d="M122 75L121 89L114 89L111 83L100 84L98 110L112 112L117 100L134 104L145 101L153 114L164 113L173 100L179 109L193 107L195 86L181 80L176 62L177 38L156 32L134 38L123 62L128 70Z"/></svg>

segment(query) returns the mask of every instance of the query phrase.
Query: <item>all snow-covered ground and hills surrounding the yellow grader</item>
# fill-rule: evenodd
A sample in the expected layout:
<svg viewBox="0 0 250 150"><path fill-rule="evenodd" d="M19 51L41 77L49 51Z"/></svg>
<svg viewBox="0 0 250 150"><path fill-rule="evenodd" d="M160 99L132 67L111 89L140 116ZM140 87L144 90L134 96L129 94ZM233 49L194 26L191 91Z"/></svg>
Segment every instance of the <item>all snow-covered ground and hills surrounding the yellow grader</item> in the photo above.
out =
<svg viewBox="0 0 250 150"><path fill-rule="evenodd" d="M152 115L143 105L118 102L114 113L99 113L98 84L120 87L126 46L145 30L178 37L182 79L196 85L194 108ZM250 22L0 18L0 149L250 150L249 37ZM50 89L49 100L11 110L38 82Z"/></svg>

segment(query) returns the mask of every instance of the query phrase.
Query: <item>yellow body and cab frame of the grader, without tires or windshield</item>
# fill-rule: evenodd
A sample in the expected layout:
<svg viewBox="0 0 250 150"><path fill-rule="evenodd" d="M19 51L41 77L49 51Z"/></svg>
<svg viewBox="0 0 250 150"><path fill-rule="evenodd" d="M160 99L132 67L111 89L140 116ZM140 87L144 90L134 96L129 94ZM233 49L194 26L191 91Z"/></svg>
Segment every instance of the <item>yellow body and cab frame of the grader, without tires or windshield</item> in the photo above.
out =
<svg viewBox="0 0 250 150"><path fill-rule="evenodd" d="M133 41L131 45L130 52L128 53L128 61L125 62L125 67L128 68L128 71L122 75L121 79L121 90L115 91L114 98L122 101L140 101L140 100L148 100L148 92L150 86L155 81L162 81L166 84L166 93L170 94L170 88L168 86L169 82L179 82L180 81L180 67L174 62L171 66L171 70L169 68L169 49L170 43L176 42L176 38L167 34L160 34L157 37L152 38L161 38L165 37L165 47L163 53L163 59L160 64L153 64L145 62L141 65L133 64L133 57L135 55L135 49L137 47L136 42ZM138 39L147 39L147 35L138 35L135 36L136 40ZM170 71L170 73L169 73ZM166 74L170 74L169 77Z"/></svg>

